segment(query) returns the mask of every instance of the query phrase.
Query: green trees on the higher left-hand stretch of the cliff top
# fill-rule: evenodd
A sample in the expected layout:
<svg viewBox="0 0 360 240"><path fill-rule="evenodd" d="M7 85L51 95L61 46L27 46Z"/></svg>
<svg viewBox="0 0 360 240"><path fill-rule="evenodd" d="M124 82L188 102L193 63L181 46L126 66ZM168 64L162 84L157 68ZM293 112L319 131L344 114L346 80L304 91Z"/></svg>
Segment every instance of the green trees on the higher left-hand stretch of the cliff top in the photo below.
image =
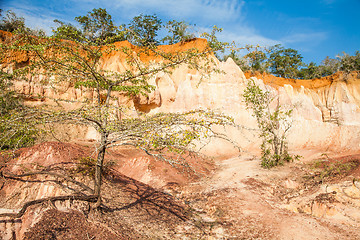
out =
<svg viewBox="0 0 360 240"><path fill-rule="evenodd" d="M2 16L3 15L3 16ZM8 32L28 31L33 35L45 36L42 30L32 30L25 26L25 19L11 10L3 14L0 9L0 30ZM175 44L195 37L191 25L184 21L168 21L163 24L157 15L135 16L130 23L116 25L106 9L98 8L85 16L75 18L76 26L71 23L54 20L53 37L104 45L116 41L128 40L136 46L157 46ZM160 34L161 33L161 34ZM166 33L166 34L165 34ZM203 35L206 37L207 35Z"/></svg>

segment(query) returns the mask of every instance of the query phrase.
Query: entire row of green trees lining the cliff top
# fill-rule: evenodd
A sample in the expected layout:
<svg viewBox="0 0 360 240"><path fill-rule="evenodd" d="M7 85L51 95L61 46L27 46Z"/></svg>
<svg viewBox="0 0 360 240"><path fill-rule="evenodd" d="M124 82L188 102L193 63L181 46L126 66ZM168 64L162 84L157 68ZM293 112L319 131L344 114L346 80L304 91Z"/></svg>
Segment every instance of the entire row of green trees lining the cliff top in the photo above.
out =
<svg viewBox="0 0 360 240"><path fill-rule="evenodd" d="M0 9L0 16L1 16ZM62 39L92 42L93 44L109 44L116 41L128 40L136 46L157 46L159 44L175 44L190 40L195 37L204 37L210 41L210 46L219 50L216 45L211 45L211 39L221 28L214 28L211 34L197 34L194 25L185 21L171 20L167 23L157 15L135 16L129 23L116 25L112 16L106 9L93 9L85 16L75 18L77 26L54 20L58 25L53 29L53 36ZM0 30L15 32L27 30L33 35L44 36L42 30L32 30L25 26L25 19L17 17L12 11L7 11L0 22ZM224 46L222 46L224 47ZM244 53L243 50L246 50ZM221 60L232 58L243 71L258 71L273 74L283 78L315 79L332 75L338 71L349 73L360 71L360 52L353 55L342 52L335 58L327 56L320 64L315 62L305 63L298 50L285 48L277 44L269 47L246 46L232 48L230 54L224 51L217 53Z"/></svg>

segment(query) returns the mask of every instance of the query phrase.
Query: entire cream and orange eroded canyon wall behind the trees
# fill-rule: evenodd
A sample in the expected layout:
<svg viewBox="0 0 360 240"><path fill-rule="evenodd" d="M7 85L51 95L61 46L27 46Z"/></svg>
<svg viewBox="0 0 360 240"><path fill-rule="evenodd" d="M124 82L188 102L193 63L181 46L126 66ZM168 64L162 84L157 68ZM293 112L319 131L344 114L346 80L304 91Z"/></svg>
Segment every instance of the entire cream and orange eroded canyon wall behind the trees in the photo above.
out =
<svg viewBox="0 0 360 240"><path fill-rule="evenodd" d="M128 42L117 43L129 45ZM204 48L206 41L196 39L173 46L162 46L165 51L179 51L191 47ZM132 48L134 51L136 49ZM251 77L263 89L278 94L281 105L293 108L292 128L288 135L290 150L314 148L320 151L358 151L360 150L360 76L359 73L336 73L332 76L314 80L282 79L266 74L246 75L229 58L219 62L214 56L222 73L213 73L209 77L181 65L171 74L158 73L150 84L156 87L148 97L139 96L129 99L116 93L112 104L131 107L132 114L145 112L183 112L192 109L211 109L232 116L239 128L225 128L223 131L246 151L256 150L260 141L257 138L256 121L247 110L242 94L246 81ZM26 62L19 56L18 65ZM149 58L143 61L153 61ZM156 59L155 59L156 60ZM14 67L14 66L13 66ZM126 69L121 53L107 54L101 62L106 70L122 71ZM52 99L65 98L67 108L76 107L76 101L83 98L95 98L96 93L85 88L75 89L70 83L52 86L40 84L41 76L31 77L29 81L15 83L17 92L37 96L28 99L27 104L51 103ZM76 132L76 131L75 131ZM79 129L76 136L94 139L91 129ZM236 154L237 150L228 143L213 141L205 150L209 155L224 156Z"/></svg>

